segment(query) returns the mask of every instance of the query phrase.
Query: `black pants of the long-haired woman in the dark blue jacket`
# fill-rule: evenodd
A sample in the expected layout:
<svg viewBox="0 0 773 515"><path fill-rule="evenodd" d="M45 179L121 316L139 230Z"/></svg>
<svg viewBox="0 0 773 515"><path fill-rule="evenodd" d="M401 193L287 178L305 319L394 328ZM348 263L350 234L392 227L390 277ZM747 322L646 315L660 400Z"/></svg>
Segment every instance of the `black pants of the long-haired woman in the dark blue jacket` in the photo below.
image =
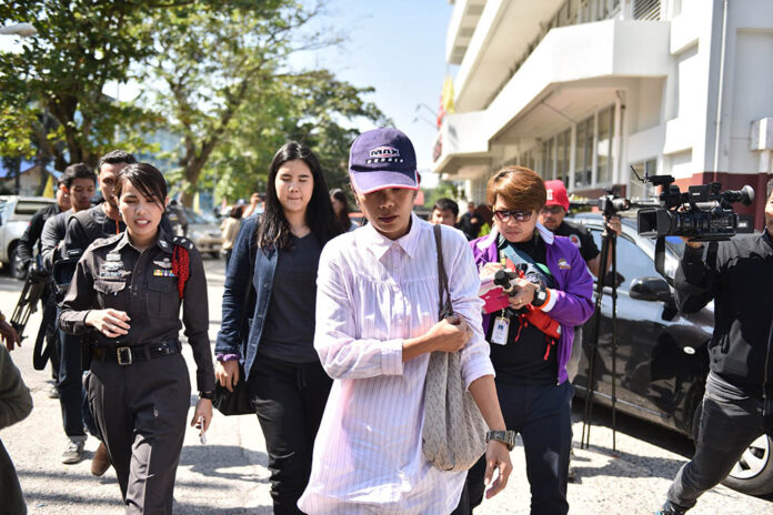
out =
<svg viewBox="0 0 773 515"><path fill-rule="evenodd" d="M250 397L265 437L274 514L299 514L309 483L314 437L332 386L319 362L288 363L258 355Z"/></svg>

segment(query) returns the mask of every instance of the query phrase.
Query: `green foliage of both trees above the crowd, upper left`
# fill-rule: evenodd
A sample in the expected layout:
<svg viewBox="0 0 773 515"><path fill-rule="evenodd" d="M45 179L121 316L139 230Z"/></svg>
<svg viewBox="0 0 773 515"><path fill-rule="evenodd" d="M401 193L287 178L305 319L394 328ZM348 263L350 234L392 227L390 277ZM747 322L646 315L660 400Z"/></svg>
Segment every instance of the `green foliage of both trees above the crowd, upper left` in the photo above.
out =
<svg viewBox="0 0 773 515"><path fill-rule="evenodd" d="M294 52L337 44L314 31L319 6L293 0L19 0L3 23L30 22L19 53L0 53L0 154L96 164L113 148L152 151L148 134L179 134L168 178L190 205L195 191L231 198L265 188L273 153L312 147L330 184L345 181L352 119L388 123L327 70L290 72ZM104 85L137 80L134 102Z"/></svg>

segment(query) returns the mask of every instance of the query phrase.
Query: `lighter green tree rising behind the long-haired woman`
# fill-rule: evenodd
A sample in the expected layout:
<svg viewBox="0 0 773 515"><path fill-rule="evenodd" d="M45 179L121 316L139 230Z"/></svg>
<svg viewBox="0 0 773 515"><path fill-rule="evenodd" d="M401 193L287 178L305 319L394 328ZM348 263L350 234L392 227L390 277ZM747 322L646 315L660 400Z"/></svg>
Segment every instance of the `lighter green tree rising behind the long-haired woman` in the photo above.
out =
<svg viewBox="0 0 773 515"><path fill-rule="evenodd" d="M212 172L227 179L221 191L254 190L288 139L317 147L323 163L338 170L341 149L348 151L353 139L338 120L382 119L360 99L370 90L335 81L327 71L290 71L293 52L338 41L309 28L319 12L319 6L291 0L244 1L231 9L193 2L153 20L157 51L145 60L147 77L163 83L152 107L182 135L185 205Z"/></svg>

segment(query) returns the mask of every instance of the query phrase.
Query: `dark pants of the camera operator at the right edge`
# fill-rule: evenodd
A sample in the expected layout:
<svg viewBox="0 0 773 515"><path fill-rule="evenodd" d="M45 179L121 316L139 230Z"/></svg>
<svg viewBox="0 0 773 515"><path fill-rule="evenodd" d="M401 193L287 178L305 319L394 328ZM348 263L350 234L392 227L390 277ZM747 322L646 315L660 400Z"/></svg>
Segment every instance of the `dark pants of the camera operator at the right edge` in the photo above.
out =
<svg viewBox="0 0 773 515"><path fill-rule="evenodd" d="M691 508L697 497L724 479L759 436L773 436L773 401L749 396L709 374L695 455L676 473L669 503Z"/></svg>

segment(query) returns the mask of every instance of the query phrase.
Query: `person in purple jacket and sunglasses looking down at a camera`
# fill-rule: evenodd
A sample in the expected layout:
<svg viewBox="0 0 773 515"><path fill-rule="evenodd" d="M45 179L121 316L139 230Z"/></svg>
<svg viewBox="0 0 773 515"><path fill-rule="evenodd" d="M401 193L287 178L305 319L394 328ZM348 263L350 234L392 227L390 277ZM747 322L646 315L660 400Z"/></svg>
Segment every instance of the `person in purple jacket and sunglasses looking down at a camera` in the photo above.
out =
<svg viewBox="0 0 773 515"><path fill-rule="evenodd" d="M523 438L531 513L561 515L569 511L570 400L574 392L566 363L574 326L593 312L593 277L568 238L553 235L538 223L545 198L544 183L536 173L523 166L502 169L486 186L493 230L470 245L481 280L503 266L522 272L510 305L483 315L483 332L491 345L505 425ZM543 332L530 311L556 323ZM480 464L468 476L473 505L482 498L479 469Z"/></svg>

